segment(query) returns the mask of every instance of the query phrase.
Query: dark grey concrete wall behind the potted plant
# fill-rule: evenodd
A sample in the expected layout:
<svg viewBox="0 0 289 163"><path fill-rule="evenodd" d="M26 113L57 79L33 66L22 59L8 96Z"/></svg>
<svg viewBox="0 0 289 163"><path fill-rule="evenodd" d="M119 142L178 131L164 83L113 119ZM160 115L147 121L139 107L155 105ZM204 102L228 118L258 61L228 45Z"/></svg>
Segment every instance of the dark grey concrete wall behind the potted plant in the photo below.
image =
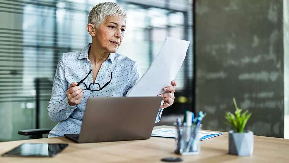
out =
<svg viewBox="0 0 289 163"><path fill-rule="evenodd" d="M284 137L283 1L196 0L196 107L203 129L228 131L232 98L246 129Z"/></svg>

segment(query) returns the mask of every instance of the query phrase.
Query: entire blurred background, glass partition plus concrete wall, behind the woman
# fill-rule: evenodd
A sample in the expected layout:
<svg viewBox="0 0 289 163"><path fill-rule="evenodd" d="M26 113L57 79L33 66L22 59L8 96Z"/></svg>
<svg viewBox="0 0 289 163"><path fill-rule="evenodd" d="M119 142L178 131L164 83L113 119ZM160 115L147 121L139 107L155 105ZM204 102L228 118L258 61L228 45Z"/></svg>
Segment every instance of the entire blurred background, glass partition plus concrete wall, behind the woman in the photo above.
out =
<svg viewBox="0 0 289 163"><path fill-rule="evenodd" d="M118 53L149 68L167 36L191 41L175 79L175 103L156 125L185 110L205 111L203 129L227 132L233 97L253 113L247 129L287 137L289 18L286 0L111 0L127 12ZM49 128L56 65L84 48L87 16L105 0L0 0L0 141L18 130ZM286 85L287 83L287 85Z"/></svg>

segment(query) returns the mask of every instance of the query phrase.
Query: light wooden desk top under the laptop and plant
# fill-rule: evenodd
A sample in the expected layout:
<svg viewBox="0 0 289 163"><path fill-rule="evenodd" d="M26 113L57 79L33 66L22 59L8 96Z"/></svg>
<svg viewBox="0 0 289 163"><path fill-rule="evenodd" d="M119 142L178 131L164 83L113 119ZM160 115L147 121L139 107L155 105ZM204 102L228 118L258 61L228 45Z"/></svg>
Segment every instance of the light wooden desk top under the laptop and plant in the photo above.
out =
<svg viewBox="0 0 289 163"><path fill-rule="evenodd" d="M157 126L163 128L169 126ZM54 158L20 158L1 157L0 163L138 163L161 162L164 157L179 156L174 154L174 139L151 137L149 140L106 142L106 143L74 143L64 137L44 138L0 143L0 153L4 153L21 143L69 143L69 146ZM197 156L179 156L183 162L204 163L279 163L289 162L289 140L273 137L254 137L254 153L252 156L232 156L228 153L228 134L201 142L201 153Z"/></svg>

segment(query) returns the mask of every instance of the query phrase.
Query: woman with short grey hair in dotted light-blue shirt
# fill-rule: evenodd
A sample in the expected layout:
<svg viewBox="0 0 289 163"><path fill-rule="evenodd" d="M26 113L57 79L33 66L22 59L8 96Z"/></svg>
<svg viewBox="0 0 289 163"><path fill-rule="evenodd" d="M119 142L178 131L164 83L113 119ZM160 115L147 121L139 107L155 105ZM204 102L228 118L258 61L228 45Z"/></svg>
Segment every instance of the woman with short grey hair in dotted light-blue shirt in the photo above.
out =
<svg viewBox="0 0 289 163"><path fill-rule="evenodd" d="M48 137L79 133L88 97L125 96L141 77L135 61L116 53L125 23L126 13L119 4L100 3L92 8L87 24L92 42L83 50L64 53L58 63L48 114L59 123ZM165 102L156 123L163 108L173 104L176 85L172 81L172 86L164 88L168 92L158 95Z"/></svg>

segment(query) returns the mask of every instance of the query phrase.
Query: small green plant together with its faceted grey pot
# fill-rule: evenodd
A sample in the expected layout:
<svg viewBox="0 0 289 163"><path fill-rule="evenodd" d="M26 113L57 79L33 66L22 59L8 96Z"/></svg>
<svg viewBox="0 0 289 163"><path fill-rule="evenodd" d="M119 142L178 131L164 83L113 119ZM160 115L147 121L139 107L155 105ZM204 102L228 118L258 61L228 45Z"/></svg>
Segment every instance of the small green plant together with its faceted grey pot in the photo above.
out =
<svg viewBox="0 0 289 163"><path fill-rule="evenodd" d="M229 154L238 156L250 156L253 154L254 147L254 134L252 131L244 130L246 123L251 113L248 110L242 112L242 109L238 108L235 98L233 98L236 108L235 115L231 112L226 112L226 120L228 124L234 128L229 131Z"/></svg>

